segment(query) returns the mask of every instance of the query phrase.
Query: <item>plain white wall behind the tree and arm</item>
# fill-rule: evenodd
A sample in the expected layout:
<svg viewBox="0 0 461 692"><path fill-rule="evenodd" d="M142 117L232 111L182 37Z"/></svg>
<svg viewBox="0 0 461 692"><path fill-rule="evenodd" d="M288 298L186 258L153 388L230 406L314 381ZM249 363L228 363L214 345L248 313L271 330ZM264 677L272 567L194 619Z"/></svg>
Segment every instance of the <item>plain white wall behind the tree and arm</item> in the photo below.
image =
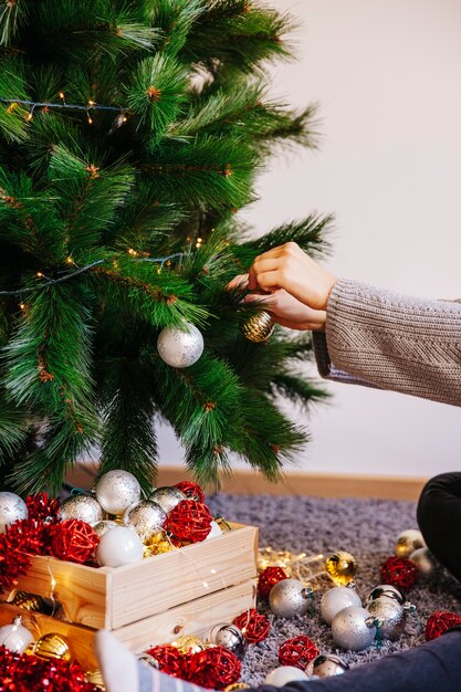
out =
<svg viewBox="0 0 461 692"><path fill-rule="evenodd" d="M303 25L300 60L273 94L321 104L321 150L272 160L244 214L260 232L334 211L340 276L429 297L461 296L461 3L271 0ZM460 411L402 395L329 385L310 419L312 472L432 475L461 466ZM171 436L163 463L180 458Z"/></svg>

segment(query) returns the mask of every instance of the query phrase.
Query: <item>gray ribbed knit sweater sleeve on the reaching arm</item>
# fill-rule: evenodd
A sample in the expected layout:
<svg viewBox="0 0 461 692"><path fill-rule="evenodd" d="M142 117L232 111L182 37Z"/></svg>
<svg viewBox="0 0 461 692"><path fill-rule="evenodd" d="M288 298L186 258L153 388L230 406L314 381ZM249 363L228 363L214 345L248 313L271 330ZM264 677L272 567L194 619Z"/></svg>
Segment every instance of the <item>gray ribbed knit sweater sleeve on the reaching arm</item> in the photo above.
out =
<svg viewBox="0 0 461 692"><path fill-rule="evenodd" d="M327 379L461 406L461 304L338 281L314 334Z"/></svg>

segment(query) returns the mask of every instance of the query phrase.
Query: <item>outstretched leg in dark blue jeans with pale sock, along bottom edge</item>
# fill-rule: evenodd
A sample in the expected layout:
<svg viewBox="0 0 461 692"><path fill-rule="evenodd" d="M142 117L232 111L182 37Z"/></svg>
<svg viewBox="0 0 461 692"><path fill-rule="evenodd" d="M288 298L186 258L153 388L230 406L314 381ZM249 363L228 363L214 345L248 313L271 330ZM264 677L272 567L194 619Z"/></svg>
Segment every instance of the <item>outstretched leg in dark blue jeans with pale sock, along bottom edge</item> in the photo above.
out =
<svg viewBox="0 0 461 692"><path fill-rule="evenodd" d="M101 656L104 648L104 654ZM122 653L123 651L123 653ZM97 632L96 653L107 692L205 692L136 661L108 632ZM128 658L130 661L128 662ZM114 661L125 674L114 670ZM127 679L128 670L132 680ZM461 630L452 630L421 647L358 665L343 675L293 682L285 692L459 692L461 680ZM135 685L135 686L134 686ZM137 685L137 686L136 686ZM249 692L276 692L262 685Z"/></svg>

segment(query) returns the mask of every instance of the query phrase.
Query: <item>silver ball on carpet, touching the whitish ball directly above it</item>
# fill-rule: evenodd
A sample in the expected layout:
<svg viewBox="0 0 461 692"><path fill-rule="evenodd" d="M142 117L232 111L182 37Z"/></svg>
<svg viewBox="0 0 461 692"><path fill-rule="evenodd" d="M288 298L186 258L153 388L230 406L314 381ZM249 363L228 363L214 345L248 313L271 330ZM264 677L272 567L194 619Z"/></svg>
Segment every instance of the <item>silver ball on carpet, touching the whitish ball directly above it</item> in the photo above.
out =
<svg viewBox="0 0 461 692"><path fill-rule="evenodd" d="M365 608L343 608L332 622L332 636L342 649L362 651L375 640L376 618Z"/></svg>

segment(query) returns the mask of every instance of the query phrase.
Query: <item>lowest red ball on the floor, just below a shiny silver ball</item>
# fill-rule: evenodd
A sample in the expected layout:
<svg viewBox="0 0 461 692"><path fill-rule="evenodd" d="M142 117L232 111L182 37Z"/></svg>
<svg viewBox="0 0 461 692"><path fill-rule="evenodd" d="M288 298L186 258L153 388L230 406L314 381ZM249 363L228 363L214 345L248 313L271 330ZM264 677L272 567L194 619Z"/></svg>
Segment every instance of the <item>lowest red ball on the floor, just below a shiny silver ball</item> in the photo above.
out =
<svg viewBox="0 0 461 692"><path fill-rule="evenodd" d="M237 682L242 670L237 656L224 647L198 651L186 660L187 680L209 690L223 690Z"/></svg>

